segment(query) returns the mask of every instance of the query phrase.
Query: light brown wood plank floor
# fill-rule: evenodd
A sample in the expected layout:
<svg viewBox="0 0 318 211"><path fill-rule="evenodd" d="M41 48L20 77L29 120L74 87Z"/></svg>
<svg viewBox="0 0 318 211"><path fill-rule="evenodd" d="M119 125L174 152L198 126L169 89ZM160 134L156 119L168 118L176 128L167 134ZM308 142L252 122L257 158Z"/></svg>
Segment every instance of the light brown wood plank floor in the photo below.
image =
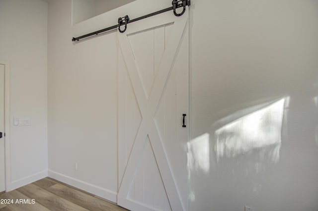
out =
<svg viewBox="0 0 318 211"><path fill-rule="evenodd" d="M48 177L2 193L0 200L0 211L127 211Z"/></svg>

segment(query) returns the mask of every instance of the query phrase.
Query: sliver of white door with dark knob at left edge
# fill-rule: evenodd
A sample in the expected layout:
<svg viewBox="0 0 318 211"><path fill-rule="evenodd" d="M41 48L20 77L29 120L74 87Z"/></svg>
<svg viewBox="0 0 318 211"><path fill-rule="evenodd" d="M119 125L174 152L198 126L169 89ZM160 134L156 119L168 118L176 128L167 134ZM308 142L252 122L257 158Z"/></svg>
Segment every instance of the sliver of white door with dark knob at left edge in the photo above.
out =
<svg viewBox="0 0 318 211"><path fill-rule="evenodd" d="M4 173L4 65L0 64L0 192L5 190Z"/></svg>

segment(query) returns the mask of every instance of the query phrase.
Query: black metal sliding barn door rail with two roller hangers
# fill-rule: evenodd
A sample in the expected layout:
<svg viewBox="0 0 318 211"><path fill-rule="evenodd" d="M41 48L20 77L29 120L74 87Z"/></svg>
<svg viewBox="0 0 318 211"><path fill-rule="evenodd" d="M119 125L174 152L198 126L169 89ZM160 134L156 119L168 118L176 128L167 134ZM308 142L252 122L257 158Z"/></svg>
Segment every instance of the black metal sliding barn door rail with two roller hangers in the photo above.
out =
<svg viewBox="0 0 318 211"><path fill-rule="evenodd" d="M141 17L137 17L137 18L132 19L132 20L129 19L128 15L125 15L124 17L119 17L118 18L118 24L110 26L110 27L107 27L107 28L104 28L104 29L100 29L98 31L94 31L94 32L91 32L91 33L88 33L88 34L84 34L84 35L79 36L79 37L73 37L72 41L73 42L74 41L79 41L80 39L83 39L83 38L86 38L86 37L90 37L90 36L93 36L93 35L98 35L100 33L103 33L103 32L106 32L106 31L109 31L109 30L112 30L112 29L115 29L115 28L118 28L118 30L121 33L123 33L123 32L126 31L128 23L132 23L132 22L135 22L137 20L145 19L147 17L151 17L151 16L154 16L156 14L160 14L162 12L166 12L166 11L170 11L170 10L173 10L173 13L174 13L175 16L181 16L185 12L185 7L186 6L190 6L190 5L191 5L191 1L190 0L172 0L172 6L171 7L168 7L168 8L165 8L165 9L161 9L161 10L159 10L157 12L146 14L146 15L141 16ZM180 8L180 7L183 7L183 9L182 9L182 11L180 13L178 13L176 9Z"/></svg>

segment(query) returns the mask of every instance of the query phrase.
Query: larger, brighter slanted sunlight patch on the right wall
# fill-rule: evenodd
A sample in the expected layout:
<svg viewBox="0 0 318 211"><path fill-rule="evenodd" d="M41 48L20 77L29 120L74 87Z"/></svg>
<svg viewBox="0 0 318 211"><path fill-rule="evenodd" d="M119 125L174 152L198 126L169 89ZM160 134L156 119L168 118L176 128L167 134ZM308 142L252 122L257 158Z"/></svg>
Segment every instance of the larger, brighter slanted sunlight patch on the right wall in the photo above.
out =
<svg viewBox="0 0 318 211"><path fill-rule="evenodd" d="M217 160L263 149L263 157L278 162L284 103L285 98L217 129L215 131Z"/></svg>

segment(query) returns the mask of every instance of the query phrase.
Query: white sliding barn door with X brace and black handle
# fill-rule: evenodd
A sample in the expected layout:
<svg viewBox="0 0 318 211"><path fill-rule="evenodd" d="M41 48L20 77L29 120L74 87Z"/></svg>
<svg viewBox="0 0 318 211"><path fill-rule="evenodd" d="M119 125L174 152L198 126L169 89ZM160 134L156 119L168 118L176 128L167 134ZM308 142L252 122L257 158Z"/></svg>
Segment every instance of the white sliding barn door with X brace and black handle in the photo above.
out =
<svg viewBox="0 0 318 211"><path fill-rule="evenodd" d="M117 203L132 211L187 211L188 8L117 33Z"/></svg>

